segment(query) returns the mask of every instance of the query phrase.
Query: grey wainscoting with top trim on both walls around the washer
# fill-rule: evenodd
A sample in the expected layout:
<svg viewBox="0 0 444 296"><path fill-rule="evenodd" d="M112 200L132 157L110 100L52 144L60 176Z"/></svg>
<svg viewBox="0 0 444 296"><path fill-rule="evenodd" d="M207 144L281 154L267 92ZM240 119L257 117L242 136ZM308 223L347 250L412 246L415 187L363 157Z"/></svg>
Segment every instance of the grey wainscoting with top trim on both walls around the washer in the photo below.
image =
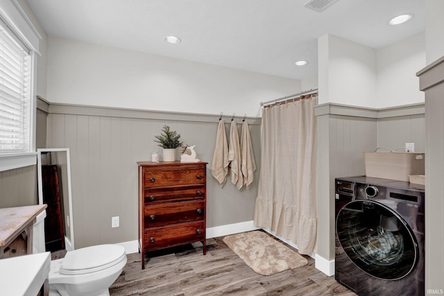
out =
<svg viewBox="0 0 444 296"><path fill-rule="evenodd" d="M334 178L365 175L364 152L414 142L423 150L424 104L372 110L319 105L318 119L318 256L334 261ZM426 156L427 157L427 156Z"/></svg>

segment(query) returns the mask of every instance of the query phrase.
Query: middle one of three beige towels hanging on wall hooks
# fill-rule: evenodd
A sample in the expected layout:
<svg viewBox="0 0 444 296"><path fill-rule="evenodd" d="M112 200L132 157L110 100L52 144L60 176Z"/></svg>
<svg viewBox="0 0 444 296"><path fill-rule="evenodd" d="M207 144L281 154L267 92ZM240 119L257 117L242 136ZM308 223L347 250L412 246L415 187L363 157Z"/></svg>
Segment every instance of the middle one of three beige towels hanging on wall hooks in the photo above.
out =
<svg viewBox="0 0 444 296"><path fill-rule="evenodd" d="M231 121L230 126L230 146L228 148L228 160L231 168L231 182L241 189L244 185L244 179L241 172L241 148L239 146L239 133L237 132L237 123Z"/></svg>

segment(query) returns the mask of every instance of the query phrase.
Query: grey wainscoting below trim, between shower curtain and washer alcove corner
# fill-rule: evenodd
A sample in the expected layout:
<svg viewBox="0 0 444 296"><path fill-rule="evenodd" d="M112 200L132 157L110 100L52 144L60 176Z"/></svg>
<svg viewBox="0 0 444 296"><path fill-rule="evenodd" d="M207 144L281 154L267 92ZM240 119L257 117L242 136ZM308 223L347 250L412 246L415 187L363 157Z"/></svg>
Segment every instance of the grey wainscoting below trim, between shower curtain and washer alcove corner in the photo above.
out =
<svg viewBox="0 0 444 296"><path fill-rule="evenodd" d="M318 255L334 260L334 178L364 175L363 152L375 149L376 119L318 114ZM325 272L325 271L324 271Z"/></svg>

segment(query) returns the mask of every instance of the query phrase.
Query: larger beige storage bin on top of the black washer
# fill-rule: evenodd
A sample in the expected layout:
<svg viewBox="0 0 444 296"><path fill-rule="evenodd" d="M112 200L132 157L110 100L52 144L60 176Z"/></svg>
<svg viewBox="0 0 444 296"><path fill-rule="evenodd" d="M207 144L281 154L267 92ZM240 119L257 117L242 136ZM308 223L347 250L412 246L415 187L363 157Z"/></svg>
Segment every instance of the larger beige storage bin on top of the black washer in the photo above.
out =
<svg viewBox="0 0 444 296"><path fill-rule="evenodd" d="M424 153L364 152L367 177L409 182L409 175L424 175Z"/></svg>

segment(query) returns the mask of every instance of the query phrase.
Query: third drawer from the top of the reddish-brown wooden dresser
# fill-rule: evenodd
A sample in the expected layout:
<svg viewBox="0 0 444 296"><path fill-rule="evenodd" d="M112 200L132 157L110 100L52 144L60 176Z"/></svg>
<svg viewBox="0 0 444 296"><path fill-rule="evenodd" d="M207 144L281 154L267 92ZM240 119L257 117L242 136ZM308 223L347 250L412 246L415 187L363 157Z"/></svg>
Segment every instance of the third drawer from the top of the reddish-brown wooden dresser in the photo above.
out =
<svg viewBox="0 0 444 296"><path fill-rule="evenodd" d="M157 204L144 209L145 228L171 225L182 222L203 220L205 214L205 202L171 202L169 204Z"/></svg>

